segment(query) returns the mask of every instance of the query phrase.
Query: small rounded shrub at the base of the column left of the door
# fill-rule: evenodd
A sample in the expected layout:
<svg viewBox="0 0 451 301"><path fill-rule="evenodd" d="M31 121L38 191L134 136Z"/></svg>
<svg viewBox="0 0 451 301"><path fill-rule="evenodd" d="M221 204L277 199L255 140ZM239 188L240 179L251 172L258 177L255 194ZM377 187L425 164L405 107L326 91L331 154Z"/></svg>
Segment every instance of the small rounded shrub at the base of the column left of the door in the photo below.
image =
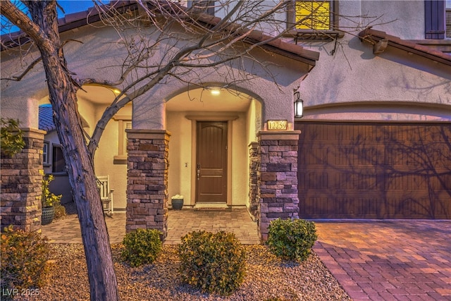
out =
<svg viewBox="0 0 451 301"><path fill-rule="evenodd" d="M123 239L121 256L130 266L152 264L161 252L161 231L156 229L137 229L127 233Z"/></svg>

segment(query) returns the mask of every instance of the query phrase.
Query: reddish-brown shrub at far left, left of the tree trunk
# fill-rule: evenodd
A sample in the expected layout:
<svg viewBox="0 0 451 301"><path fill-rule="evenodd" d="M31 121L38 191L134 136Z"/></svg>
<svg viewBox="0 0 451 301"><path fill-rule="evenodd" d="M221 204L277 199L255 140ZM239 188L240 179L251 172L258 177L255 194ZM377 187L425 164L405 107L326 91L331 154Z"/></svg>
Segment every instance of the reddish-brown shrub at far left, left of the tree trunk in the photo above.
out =
<svg viewBox="0 0 451 301"><path fill-rule="evenodd" d="M1 290L39 288L50 271L49 245L40 233L4 228L1 233Z"/></svg>

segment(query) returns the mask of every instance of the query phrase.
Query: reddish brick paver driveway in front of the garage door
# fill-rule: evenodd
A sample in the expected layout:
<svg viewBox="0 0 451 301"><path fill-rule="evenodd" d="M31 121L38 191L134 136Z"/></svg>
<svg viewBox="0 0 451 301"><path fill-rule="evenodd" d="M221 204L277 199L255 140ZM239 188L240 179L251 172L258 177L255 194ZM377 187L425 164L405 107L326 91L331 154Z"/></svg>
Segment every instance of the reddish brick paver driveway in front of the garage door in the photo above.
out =
<svg viewBox="0 0 451 301"><path fill-rule="evenodd" d="M314 251L353 300L451 300L451 221L315 221Z"/></svg>

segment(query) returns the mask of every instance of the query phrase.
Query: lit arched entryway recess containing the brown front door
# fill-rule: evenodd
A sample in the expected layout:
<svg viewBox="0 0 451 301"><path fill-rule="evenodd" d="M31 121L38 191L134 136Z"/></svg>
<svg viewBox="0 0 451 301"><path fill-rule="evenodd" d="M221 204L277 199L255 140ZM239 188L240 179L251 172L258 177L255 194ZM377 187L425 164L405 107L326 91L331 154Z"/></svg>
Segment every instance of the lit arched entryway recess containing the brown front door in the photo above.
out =
<svg viewBox="0 0 451 301"><path fill-rule="evenodd" d="M261 130L261 103L220 87L181 92L166 102L168 195L183 195L191 207L250 204L249 145Z"/></svg>

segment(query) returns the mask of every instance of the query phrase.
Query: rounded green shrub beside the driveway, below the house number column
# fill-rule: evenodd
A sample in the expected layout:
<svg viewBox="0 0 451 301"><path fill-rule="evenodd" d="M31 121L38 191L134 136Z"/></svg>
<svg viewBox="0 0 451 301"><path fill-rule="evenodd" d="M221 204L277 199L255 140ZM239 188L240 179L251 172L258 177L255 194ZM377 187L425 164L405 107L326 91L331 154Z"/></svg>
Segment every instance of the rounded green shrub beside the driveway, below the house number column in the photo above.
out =
<svg viewBox="0 0 451 301"><path fill-rule="evenodd" d="M309 257L317 238L313 221L276 219L269 224L266 244L276 256L302 262Z"/></svg>

